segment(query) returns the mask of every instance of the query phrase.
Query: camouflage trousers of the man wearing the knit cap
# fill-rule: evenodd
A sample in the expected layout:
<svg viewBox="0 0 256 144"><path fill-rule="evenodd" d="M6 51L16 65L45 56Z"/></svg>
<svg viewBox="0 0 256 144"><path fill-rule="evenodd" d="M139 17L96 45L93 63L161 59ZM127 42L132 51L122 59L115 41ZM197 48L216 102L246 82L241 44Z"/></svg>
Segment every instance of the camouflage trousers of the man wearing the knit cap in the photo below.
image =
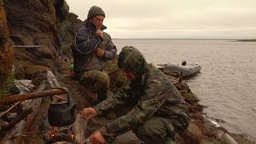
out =
<svg viewBox="0 0 256 144"><path fill-rule="evenodd" d="M110 86L125 85L126 77L122 74L122 70L118 68L117 64L108 63L103 70L85 71L79 82L82 85L92 86L98 94L98 102L102 102L107 98Z"/></svg>

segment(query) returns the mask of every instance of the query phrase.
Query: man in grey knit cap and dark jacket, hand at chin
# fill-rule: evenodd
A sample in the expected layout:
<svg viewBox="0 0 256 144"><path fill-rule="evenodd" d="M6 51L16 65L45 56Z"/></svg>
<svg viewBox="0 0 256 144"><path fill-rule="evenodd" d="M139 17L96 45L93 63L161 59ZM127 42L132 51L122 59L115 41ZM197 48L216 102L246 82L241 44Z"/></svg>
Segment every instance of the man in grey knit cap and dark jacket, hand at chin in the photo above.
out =
<svg viewBox="0 0 256 144"><path fill-rule="evenodd" d="M110 35L103 30L104 11L92 6L87 19L74 38L74 76L80 83L94 86L98 93L98 102L106 99L110 77L103 69L108 60L115 58L116 46Z"/></svg>

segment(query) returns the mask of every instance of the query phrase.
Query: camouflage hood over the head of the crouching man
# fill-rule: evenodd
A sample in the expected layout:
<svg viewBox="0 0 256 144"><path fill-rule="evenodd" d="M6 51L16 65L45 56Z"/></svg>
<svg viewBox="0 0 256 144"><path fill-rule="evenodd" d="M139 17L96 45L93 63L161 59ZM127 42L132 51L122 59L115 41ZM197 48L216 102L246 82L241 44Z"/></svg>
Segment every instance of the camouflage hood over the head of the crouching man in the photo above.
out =
<svg viewBox="0 0 256 144"><path fill-rule="evenodd" d="M118 57L118 67L133 72L136 77L142 73L146 64L143 54L134 46L123 47Z"/></svg>

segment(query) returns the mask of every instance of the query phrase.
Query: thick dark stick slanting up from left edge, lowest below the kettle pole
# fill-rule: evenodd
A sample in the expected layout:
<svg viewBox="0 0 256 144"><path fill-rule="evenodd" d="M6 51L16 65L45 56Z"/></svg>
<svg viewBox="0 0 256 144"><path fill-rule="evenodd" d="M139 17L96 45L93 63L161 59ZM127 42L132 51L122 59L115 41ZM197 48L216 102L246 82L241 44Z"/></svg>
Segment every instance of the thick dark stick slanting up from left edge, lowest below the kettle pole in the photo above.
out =
<svg viewBox="0 0 256 144"><path fill-rule="evenodd" d="M9 125L3 127L0 130L0 136L6 133L7 130L10 130L12 127L14 127L18 122L22 121L22 119L26 118L26 116L30 113L32 113L33 109L30 107L29 109L23 111L22 114L18 115L17 118L15 118L12 122L9 123Z"/></svg>

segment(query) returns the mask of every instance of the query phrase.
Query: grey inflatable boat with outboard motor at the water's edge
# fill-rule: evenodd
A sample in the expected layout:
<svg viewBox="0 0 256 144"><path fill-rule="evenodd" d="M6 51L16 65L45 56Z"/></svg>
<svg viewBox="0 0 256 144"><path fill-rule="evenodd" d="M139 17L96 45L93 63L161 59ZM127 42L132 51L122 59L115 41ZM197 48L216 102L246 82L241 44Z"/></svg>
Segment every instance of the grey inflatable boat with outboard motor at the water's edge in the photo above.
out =
<svg viewBox="0 0 256 144"><path fill-rule="evenodd" d="M171 62L166 64L158 64L157 66L161 66L166 72L178 73L178 75L182 75L182 77L188 77L192 74L196 74L202 69L202 67L196 63L187 65L186 61L183 61L182 65Z"/></svg>

